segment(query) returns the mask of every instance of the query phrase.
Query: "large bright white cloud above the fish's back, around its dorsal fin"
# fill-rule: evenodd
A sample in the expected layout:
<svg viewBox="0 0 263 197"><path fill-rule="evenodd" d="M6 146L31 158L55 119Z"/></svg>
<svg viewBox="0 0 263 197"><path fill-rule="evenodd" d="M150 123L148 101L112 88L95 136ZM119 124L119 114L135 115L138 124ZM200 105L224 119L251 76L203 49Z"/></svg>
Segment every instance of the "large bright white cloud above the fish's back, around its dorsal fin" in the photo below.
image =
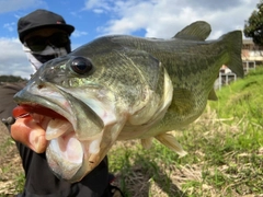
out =
<svg viewBox="0 0 263 197"><path fill-rule="evenodd" d="M254 0L88 0L85 9L107 13L111 18L100 34L133 34L145 30L147 37L172 37L190 23L210 23L209 38L233 30L242 30L254 10Z"/></svg>

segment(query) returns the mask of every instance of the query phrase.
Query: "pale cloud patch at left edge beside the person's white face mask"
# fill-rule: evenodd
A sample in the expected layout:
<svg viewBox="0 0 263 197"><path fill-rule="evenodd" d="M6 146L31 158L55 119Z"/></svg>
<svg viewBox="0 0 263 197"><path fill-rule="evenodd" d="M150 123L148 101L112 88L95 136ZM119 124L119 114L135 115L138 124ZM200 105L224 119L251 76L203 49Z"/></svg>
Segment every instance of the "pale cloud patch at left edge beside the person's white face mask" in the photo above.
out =
<svg viewBox="0 0 263 197"><path fill-rule="evenodd" d="M13 74L28 78L33 72L18 38L0 38L0 76Z"/></svg>

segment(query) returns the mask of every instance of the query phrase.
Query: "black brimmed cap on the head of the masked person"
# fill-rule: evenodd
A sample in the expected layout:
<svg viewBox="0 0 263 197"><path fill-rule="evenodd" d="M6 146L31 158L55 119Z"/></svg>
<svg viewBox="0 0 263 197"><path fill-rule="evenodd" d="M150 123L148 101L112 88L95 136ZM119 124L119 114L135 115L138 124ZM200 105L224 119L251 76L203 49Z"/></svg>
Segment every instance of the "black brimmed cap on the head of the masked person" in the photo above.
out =
<svg viewBox="0 0 263 197"><path fill-rule="evenodd" d="M23 43L26 34L42 27L57 27L66 31L69 35L75 31L72 25L66 24L66 21L61 15L47 10L38 9L23 18L20 18L18 23L20 40Z"/></svg>

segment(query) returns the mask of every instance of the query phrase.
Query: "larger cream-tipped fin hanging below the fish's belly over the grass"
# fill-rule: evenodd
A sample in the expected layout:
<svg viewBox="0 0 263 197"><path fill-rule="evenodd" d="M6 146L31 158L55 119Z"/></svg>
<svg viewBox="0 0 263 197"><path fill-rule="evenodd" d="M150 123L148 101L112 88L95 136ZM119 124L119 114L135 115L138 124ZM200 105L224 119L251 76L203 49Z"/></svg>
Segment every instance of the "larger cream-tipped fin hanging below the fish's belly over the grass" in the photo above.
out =
<svg viewBox="0 0 263 197"><path fill-rule="evenodd" d="M176 152L180 157L184 157L187 154L187 152L183 150L182 146L176 141L174 136L172 136L171 134L162 134L156 136L156 139L165 147Z"/></svg>

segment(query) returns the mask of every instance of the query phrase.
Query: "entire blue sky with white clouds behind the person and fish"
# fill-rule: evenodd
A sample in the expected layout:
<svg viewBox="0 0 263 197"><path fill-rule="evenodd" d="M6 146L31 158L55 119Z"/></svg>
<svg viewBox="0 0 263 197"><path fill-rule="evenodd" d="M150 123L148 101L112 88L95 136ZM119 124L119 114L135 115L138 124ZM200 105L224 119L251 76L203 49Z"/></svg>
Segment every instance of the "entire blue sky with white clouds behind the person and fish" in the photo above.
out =
<svg viewBox="0 0 263 197"><path fill-rule="evenodd" d="M18 39L16 23L36 9L62 15L76 27L72 48L108 34L169 38L190 23L210 23L209 39L243 30L260 0L0 0L0 76L33 72Z"/></svg>

